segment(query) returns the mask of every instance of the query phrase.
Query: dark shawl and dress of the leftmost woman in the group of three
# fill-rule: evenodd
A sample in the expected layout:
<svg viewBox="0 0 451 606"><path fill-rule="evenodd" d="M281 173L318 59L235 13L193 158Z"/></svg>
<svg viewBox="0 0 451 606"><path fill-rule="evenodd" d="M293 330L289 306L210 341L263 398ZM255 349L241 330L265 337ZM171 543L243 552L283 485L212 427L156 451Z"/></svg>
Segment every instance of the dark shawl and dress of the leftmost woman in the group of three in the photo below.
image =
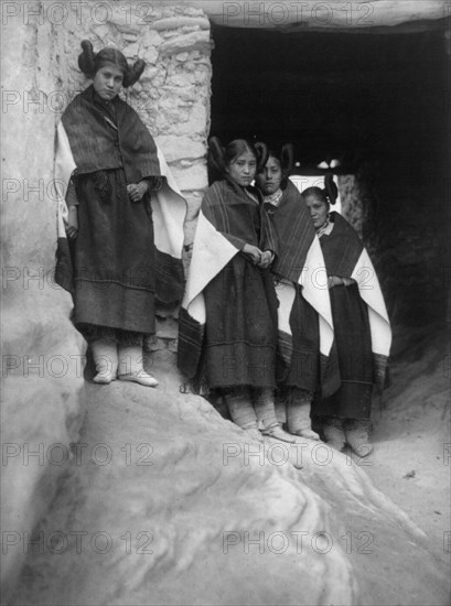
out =
<svg viewBox="0 0 451 606"><path fill-rule="evenodd" d="M257 190L249 188L260 199ZM204 375L208 388L276 387L277 301L270 271L257 268L240 252L245 244L276 251L261 205L232 181L214 183L202 213L237 253L203 290L206 311L201 336L181 311L179 365L187 377ZM198 335L198 336L194 336ZM198 364L195 351L203 338Z"/></svg>

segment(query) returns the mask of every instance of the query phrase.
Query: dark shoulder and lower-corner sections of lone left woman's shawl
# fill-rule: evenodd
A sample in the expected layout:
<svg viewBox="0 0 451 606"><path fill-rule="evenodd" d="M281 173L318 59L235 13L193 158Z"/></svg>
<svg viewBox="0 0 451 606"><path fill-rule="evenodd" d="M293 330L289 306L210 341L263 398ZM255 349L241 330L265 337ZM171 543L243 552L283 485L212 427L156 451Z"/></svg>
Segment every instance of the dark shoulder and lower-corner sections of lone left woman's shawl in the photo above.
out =
<svg viewBox="0 0 451 606"><path fill-rule="evenodd" d="M155 142L138 113L118 96L107 102L90 85L68 105L62 125L76 164L75 175L122 169L126 183L161 176ZM165 181L163 191L171 191ZM149 206L149 199L147 199ZM151 213L149 206L149 213ZM74 264L66 238L58 238L56 282L74 295ZM181 301L184 272L181 258L154 250L155 296L167 305Z"/></svg>

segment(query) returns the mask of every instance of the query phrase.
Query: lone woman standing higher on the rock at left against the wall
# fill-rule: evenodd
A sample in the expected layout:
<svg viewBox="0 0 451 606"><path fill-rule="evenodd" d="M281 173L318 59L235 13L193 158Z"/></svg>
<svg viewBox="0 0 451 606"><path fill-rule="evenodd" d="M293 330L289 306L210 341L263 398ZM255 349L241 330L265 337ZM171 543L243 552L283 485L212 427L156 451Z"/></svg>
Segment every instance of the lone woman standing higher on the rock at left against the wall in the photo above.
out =
<svg viewBox="0 0 451 606"><path fill-rule="evenodd" d="M94 381L154 387L142 365L143 338L154 333L155 296L175 304L183 294L186 203L153 138L118 96L144 63L129 66L116 48L94 53L87 40L82 47L78 65L93 82L57 127L55 278L73 295L73 321L90 345Z"/></svg>

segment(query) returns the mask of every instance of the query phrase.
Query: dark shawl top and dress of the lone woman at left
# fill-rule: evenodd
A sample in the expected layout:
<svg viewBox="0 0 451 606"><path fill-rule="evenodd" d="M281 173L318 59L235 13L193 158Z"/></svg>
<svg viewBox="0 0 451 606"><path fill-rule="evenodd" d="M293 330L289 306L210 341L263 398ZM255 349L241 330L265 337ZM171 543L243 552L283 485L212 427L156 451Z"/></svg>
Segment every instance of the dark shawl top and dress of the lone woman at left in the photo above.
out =
<svg viewBox="0 0 451 606"><path fill-rule="evenodd" d="M74 323L82 332L154 333L150 196L133 203L127 193L128 184L161 175L154 141L130 106L119 97L103 100L93 86L72 101L62 123L76 164L78 235L69 258L60 255L56 279L73 293Z"/></svg>

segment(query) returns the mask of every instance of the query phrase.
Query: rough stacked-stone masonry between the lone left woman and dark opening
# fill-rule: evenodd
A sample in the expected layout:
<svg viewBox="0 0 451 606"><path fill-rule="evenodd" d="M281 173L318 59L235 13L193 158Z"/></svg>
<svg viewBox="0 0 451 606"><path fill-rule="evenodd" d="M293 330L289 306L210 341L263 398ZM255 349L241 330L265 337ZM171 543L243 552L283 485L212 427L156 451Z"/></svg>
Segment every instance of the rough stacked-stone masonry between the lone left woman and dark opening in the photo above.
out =
<svg viewBox="0 0 451 606"><path fill-rule="evenodd" d="M130 63L146 62L139 82L125 89L122 98L139 113L162 149L189 205L185 221L185 267L193 240L203 191L207 186L206 141L210 132L212 42L210 22L197 8L165 2L109 3L104 10L90 2L80 12L73 3L58 31L56 61L64 66L58 83L65 101L86 87L77 57L80 41L88 39L97 52L115 46ZM46 6L50 6L46 3ZM141 8L140 8L141 7ZM83 18L83 19L82 19ZM80 22L82 21L82 22ZM155 338L147 348L174 359L176 310L159 310Z"/></svg>

